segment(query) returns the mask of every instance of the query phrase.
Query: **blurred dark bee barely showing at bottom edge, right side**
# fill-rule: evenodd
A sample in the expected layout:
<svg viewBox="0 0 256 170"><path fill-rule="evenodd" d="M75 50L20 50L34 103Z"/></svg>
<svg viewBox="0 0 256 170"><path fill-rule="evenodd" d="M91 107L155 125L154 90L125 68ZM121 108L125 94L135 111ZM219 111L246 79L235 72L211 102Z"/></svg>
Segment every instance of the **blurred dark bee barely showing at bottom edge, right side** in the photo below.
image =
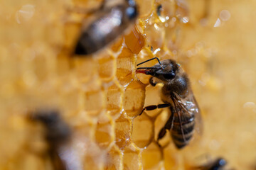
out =
<svg viewBox="0 0 256 170"><path fill-rule="evenodd" d="M209 162L202 166L193 167L193 170L224 170L224 166L227 164L223 158L215 159L213 162Z"/></svg>

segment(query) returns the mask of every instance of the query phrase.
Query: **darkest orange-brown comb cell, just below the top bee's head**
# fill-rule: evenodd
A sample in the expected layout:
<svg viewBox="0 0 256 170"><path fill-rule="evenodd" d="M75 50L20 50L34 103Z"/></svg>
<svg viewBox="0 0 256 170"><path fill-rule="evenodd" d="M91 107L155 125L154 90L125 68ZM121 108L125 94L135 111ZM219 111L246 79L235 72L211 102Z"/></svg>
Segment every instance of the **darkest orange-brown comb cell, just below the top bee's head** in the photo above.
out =
<svg viewBox="0 0 256 170"><path fill-rule="evenodd" d="M134 54L139 54L145 45L142 33L139 33L137 26L134 26L128 35L124 36L125 44Z"/></svg>

